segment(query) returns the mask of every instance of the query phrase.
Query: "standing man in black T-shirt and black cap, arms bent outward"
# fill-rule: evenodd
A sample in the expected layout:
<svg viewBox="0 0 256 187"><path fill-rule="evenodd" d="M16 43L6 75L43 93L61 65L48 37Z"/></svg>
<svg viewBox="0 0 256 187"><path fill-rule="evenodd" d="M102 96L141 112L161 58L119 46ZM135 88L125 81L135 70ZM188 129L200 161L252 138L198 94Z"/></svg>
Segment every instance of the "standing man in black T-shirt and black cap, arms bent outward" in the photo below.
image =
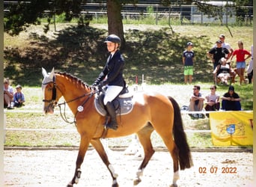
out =
<svg viewBox="0 0 256 187"><path fill-rule="evenodd" d="M213 47L210 49L209 52L207 52L207 57L210 58L213 61L213 70L216 69L216 67L219 64L219 60L224 57L228 58L229 51L226 48L222 48L222 41L218 40L216 41L216 47ZM216 76L213 75L214 82L216 82Z"/></svg>

